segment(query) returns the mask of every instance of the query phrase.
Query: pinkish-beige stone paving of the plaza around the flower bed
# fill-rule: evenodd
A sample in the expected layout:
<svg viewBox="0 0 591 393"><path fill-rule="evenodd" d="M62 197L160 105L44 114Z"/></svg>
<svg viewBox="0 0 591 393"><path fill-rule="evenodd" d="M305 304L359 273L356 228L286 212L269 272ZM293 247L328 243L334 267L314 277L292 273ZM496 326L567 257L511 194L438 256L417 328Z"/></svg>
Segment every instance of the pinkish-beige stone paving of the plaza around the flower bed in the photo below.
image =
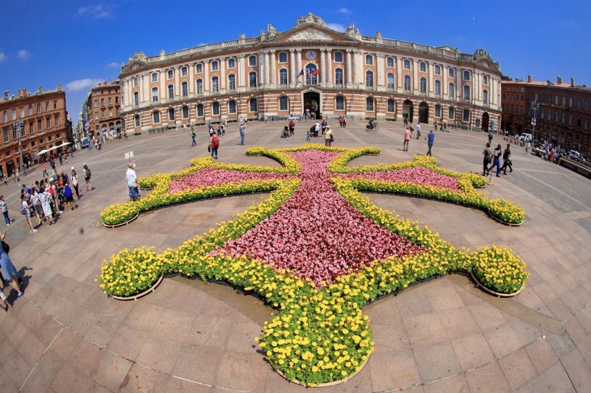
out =
<svg viewBox="0 0 591 393"><path fill-rule="evenodd" d="M278 165L244 150L299 146L310 125L298 123L294 137L280 138L283 123L251 122L246 146L239 146L237 125L230 124L219 161ZM360 121L331 126L334 146L382 148L350 165L401 162L427 151L422 138L402 151L403 126L394 122L381 122L377 133L363 131ZM500 139L495 135L493 144L507 143ZM375 351L345 384L305 389L273 371L254 340L273 309L229 287L177 277L139 300L107 298L95 279L111 254L141 245L179 247L266 198L192 202L143 213L118 229L100 225L104 207L128 198L125 152L134 151L139 176L172 172L208 154L205 127L197 142L190 147L189 133L168 131L76 155L58 170L75 166L80 173L87 163L94 190L84 193L78 210L34 234L17 209L19 184L0 186L17 219L6 236L10 257L26 285L12 310L0 311L1 392L591 392L591 182L517 146L513 173L493 176L482 192L522 204L521 227L454 204L368 195L455 247L511 247L531 277L516 298L493 298L468 278L450 275L366 305ZM444 168L481 171L486 142L483 133L437 131L433 155ZM30 184L39 172L21 180Z"/></svg>

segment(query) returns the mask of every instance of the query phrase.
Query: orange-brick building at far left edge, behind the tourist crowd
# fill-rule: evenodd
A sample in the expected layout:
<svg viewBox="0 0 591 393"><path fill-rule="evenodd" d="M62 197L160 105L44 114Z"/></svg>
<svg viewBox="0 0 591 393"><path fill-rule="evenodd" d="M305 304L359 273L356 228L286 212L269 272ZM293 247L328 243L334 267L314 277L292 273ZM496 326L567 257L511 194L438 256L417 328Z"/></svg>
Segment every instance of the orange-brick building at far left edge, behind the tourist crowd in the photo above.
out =
<svg viewBox="0 0 591 393"><path fill-rule="evenodd" d="M20 127L16 126L19 120ZM49 91L39 87L35 93L28 93L25 88L17 95L5 91L0 99L0 129L0 171L4 176L12 175L17 168L22 171L23 163L36 163L39 151L71 141L72 128L62 85Z"/></svg>

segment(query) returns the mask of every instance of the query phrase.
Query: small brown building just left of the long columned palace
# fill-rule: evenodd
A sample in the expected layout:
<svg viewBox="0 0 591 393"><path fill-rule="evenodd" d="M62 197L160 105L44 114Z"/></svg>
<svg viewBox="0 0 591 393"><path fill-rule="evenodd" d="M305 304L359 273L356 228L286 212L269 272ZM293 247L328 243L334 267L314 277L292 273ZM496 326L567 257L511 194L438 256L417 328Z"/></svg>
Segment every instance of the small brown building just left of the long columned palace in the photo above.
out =
<svg viewBox="0 0 591 393"><path fill-rule="evenodd" d="M91 88L84 105L89 136L108 138L121 132L119 81L104 82Z"/></svg>

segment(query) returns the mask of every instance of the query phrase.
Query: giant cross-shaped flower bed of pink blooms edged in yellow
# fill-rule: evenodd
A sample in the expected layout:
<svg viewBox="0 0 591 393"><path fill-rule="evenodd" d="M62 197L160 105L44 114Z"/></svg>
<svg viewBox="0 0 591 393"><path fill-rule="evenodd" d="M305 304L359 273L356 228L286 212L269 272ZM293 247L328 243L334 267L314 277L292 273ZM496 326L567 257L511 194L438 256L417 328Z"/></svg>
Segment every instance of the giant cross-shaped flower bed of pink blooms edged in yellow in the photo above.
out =
<svg viewBox="0 0 591 393"><path fill-rule="evenodd" d="M273 157L282 166L198 159L179 173L140 179L154 191L144 198L147 204L131 202L129 209L136 213L210 196L271 194L178 249L121 251L104 262L100 286L106 294L131 296L161 274L183 274L252 291L278 309L260 337L266 358L290 380L317 385L358 372L372 353L372 329L362 314L369 300L451 271L473 271L484 285L502 293L525 285L525 264L511 251L455 249L360 192L426 196L487 209L489 200L473 189L477 178L438 169L424 157L347 167L352 158L376 150L251 148L247 153ZM504 209L517 209L503 203ZM103 213L116 220L118 208L111 208Z"/></svg>

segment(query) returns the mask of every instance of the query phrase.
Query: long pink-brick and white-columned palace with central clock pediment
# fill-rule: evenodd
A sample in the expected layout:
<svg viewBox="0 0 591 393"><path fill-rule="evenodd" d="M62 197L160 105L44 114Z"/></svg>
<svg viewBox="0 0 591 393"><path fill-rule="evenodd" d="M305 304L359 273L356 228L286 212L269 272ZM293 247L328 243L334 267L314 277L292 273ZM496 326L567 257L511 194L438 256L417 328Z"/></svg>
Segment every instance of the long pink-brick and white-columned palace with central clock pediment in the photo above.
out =
<svg viewBox="0 0 591 393"><path fill-rule="evenodd" d="M500 77L485 50L338 32L311 13L285 32L268 24L258 37L136 52L119 75L127 133L312 112L488 131L500 124Z"/></svg>

